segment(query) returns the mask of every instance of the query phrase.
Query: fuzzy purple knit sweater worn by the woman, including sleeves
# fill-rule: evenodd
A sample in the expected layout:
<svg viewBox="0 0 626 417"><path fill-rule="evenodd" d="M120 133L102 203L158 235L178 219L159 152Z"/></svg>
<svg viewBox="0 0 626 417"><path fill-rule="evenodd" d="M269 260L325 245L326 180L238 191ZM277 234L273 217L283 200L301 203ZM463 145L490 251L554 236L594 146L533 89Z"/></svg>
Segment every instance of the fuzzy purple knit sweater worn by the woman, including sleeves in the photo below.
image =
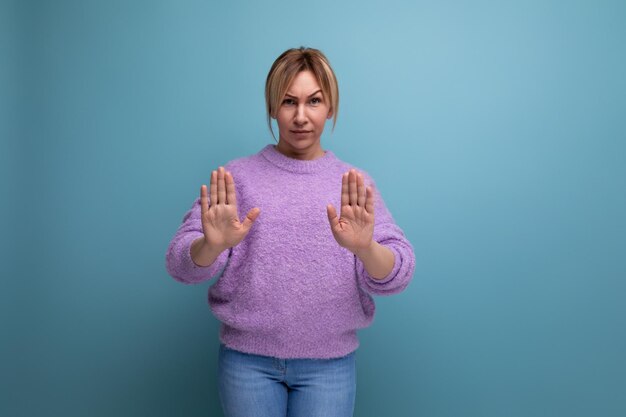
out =
<svg viewBox="0 0 626 417"><path fill-rule="evenodd" d="M240 220L253 207L261 209L259 217L238 245L213 264L198 266L189 251L203 236L198 197L167 248L167 272L197 284L223 270L208 301L221 321L220 341L232 349L284 359L328 359L356 350L357 329L374 318L372 295L403 291L415 270L413 247L369 174L330 150L305 161L281 154L273 144L224 167L235 180ZM326 205L340 215L341 176L350 168L374 186L374 240L395 257L382 280L372 278L330 230Z"/></svg>

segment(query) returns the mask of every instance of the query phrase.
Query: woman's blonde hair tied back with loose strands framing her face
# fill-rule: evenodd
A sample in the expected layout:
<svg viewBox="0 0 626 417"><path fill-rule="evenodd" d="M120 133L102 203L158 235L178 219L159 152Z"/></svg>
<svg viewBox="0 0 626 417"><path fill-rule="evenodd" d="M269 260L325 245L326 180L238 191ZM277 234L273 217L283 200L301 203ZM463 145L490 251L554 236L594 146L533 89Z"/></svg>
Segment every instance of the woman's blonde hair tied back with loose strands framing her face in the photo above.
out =
<svg viewBox="0 0 626 417"><path fill-rule="evenodd" d="M339 110L339 86L335 73L322 51L301 46L300 48L287 49L276 58L265 80L267 125L274 140L276 140L276 136L272 130L272 118L276 118L283 97L293 79L298 73L307 70L313 73L322 88L324 99L330 103L329 110L333 112L332 130L335 130Z"/></svg>

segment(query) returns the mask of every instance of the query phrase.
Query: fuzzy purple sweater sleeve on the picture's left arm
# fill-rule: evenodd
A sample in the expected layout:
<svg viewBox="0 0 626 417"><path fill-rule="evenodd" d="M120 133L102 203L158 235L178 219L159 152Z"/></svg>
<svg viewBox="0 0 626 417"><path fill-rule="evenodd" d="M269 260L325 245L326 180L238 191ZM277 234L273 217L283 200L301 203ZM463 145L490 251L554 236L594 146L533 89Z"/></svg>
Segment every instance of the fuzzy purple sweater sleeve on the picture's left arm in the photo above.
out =
<svg viewBox="0 0 626 417"><path fill-rule="evenodd" d="M183 217L182 224L174 234L165 254L167 272L184 284L198 284L218 275L228 262L232 249L222 251L208 266L198 266L191 259L191 244L203 237L200 197L196 198L191 209Z"/></svg>

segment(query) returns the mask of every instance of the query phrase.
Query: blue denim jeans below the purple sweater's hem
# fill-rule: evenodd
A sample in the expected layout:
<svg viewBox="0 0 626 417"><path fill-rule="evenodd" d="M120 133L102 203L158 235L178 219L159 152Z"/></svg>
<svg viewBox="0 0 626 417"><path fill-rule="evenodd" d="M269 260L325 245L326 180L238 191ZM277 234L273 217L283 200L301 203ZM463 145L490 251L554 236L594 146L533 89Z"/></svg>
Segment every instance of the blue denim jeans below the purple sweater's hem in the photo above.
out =
<svg viewBox="0 0 626 417"><path fill-rule="evenodd" d="M333 359L279 359L220 343L218 389L226 417L352 417L356 351Z"/></svg>

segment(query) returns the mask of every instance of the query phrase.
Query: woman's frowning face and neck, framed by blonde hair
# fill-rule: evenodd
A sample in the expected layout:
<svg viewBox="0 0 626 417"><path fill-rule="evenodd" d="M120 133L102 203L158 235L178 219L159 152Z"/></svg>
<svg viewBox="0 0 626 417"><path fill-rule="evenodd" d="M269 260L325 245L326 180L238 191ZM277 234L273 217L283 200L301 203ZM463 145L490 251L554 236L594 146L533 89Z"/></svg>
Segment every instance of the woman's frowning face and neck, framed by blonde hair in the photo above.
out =
<svg viewBox="0 0 626 417"><path fill-rule="evenodd" d="M298 159L323 156L320 137L326 120L332 115L330 103L324 98L313 73L299 72L287 89L277 112L277 149Z"/></svg>

